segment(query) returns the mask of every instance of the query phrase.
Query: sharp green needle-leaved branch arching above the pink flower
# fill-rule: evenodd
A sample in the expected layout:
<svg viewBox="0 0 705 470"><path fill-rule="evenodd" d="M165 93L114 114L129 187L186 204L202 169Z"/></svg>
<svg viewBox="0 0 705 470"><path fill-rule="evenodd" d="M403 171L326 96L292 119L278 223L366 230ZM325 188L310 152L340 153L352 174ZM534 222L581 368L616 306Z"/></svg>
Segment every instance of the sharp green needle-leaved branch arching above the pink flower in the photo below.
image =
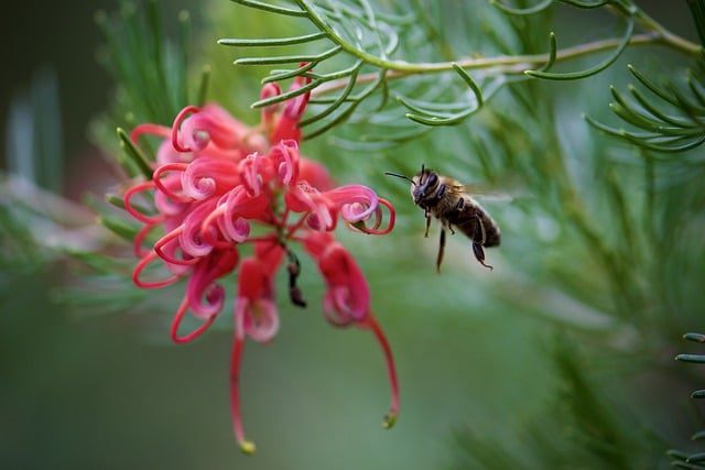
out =
<svg viewBox="0 0 705 470"><path fill-rule="evenodd" d="M415 122L426 125L453 125L469 118L499 87L513 81L522 74L555 80L588 78L612 65L630 43L666 43L688 54L696 55L699 52L697 46L673 36L636 3L622 0L563 2L581 9L611 8L611 11L626 21L625 31L618 40L609 39L557 50L555 34L551 32L547 54L533 51L531 54L525 54L525 51L507 51L510 55L477 58L459 58L458 56L463 53L456 53L454 44L440 34L443 30L440 24L443 23L438 20L448 20L451 10L469 20L469 17L463 17L463 10L458 11L451 6L409 1L397 2L390 11L382 11L379 6L372 8L370 3L362 0L349 4L338 0L315 3L300 0L292 1L286 7L274 7L271 3L252 0L236 0L236 2L300 22L305 19L313 25L313 32L288 37L230 37L219 41L223 45L247 48L251 52L251 55L238 57L235 61L238 65L293 65L290 68L272 69L263 81L280 81L295 76L304 76L312 80L305 88L292 91L296 95L313 90L316 97L313 102L323 106L322 110L303 122L303 125L310 125L326 120L325 124L318 123L317 129L308 131L310 138L349 120L361 101L371 97L375 97L377 102L372 108L375 113L386 108L392 98L411 111L405 116ZM503 3L498 3L497 7L505 14L520 18L521 23L524 24L530 21L528 17L545 13L554 3L557 2L544 1L528 8L512 8ZM506 50L508 43L514 43L507 41L506 37L499 41L498 32L506 32L506 18L501 18L496 12L482 12L480 7L474 8L473 13L480 18L475 22L484 23L487 33L497 34L497 37L494 37L497 40L496 51ZM505 24L499 26L497 23ZM421 40L424 43L420 43L419 28L411 28L413 24L422 25L421 32L426 33ZM496 28L496 24L499 28ZM637 25L644 32L637 35ZM292 45L299 53L265 56L258 54L261 47L289 48ZM464 47L468 45L471 46L471 40L463 44ZM605 50L611 51L609 56L586 69L551 70L556 63ZM443 61L445 58L448 59ZM440 59L443 62L438 62ZM307 65L299 67L301 63ZM531 68L532 65L538 68ZM469 70L479 70L477 74L481 76L481 81L474 79ZM453 73L458 74L462 79L457 85L465 83L471 95L469 99L464 99L463 96L467 94L467 89L464 90L454 85L449 94L453 100L443 102L442 96L435 96L438 95L438 87L434 87L435 92L430 88L438 84L438 76L442 77L441 79L452 80ZM514 78L509 80L510 77ZM403 84L392 84L398 80ZM359 92L355 94L356 89L359 89ZM423 99L412 99L408 96L409 94L422 95ZM254 108L268 106L292 98L294 95L283 94L256 101L252 106ZM326 98L318 98L318 96L326 96Z"/></svg>

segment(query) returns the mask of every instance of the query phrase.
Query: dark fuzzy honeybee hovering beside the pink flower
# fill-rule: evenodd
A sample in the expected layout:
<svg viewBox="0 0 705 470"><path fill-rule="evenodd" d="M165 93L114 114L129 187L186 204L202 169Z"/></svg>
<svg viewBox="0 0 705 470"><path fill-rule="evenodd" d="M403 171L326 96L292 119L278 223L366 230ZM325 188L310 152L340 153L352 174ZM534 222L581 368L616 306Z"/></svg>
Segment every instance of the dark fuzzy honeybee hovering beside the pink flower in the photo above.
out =
<svg viewBox="0 0 705 470"><path fill-rule="evenodd" d="M431 216L441 221L441 241L436 258L438 273L445 250L445 231L447 228L454 234L454 227L471 240L475 259L482 266L492 270L491 265L485 263L485 247L499 247L501 232L482 206L466 193L465 186L448 176L442 176L431 168L425 168L424 165L413 178L391 172L384 172L384 174L411 183L414 204L421 207L426 216L424 237L429 237Z"/></svg>

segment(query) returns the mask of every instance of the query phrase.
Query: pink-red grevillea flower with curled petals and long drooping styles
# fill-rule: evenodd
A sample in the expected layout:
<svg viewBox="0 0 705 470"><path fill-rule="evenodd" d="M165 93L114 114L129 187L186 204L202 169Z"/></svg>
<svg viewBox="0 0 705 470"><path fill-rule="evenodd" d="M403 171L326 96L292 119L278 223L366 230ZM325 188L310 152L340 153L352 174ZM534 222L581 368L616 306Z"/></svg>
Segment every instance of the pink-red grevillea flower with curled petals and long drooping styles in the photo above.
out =
<svg viewBox="0 0 705 470"><path fill-rule="evenodd" d="M262 89L263 98L279 94L276 85ZM369 286L333 234L340 221L359 232L388 233L394 210L369 187L334 187L323 165L301 155L297 123L307 100L304 94L265 108L258 128L210 103L184 108L171 128L142 124L131 134L135 144L144 134L162 139L152 179L129 187L124 207L142 223L134 240L140 259L134 284L159 288L186 278L172 339L186 342L206 331L225 306L224 280L237 280L230 397L235 435L246 452L254 451L254 445L247 440L240 419L242 349L247 337L267 342L276 335L274 277L282 265L289 273L292 304L306 306L296 284L301 275L296 243L313 258L327 286L325 318L336 327L369 329L382 347L392 389L386 427L393 425L399 411L392 354L370 309ZM383 208L389 210L384 228ZM188 313L200 325L183 332L182 320Z"/></svg>

